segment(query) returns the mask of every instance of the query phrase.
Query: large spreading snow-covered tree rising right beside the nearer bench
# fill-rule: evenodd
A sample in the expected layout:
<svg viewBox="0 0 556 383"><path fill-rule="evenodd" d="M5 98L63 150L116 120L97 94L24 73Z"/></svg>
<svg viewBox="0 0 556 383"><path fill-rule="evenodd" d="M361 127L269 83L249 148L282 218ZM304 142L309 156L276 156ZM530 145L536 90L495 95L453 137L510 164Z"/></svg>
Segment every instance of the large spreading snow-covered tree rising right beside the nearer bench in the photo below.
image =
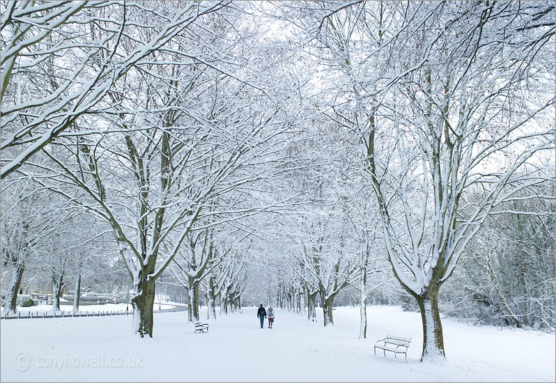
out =
<svg viewBox="0 0 556 383"><path fill-rule="evenodd" d="M364 146L393 272L421 309L422 359L445 356L438 293L466 244L543 182L519 170L554 149L553 16L543 2L325 4L314 16L336 91L326 113ZM467 203L475 185L488 192Z"/></svg>

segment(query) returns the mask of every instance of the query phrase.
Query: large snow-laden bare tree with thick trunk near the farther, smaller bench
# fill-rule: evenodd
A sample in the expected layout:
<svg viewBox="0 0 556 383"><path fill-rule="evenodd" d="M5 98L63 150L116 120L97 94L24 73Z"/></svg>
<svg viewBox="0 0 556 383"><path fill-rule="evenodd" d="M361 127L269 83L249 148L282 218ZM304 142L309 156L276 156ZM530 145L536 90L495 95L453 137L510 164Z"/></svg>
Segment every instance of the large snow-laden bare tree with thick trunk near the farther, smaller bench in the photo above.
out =
<svg viewBox="0 0 556 383"><path fill-rule="evenodd" d="M61 169L43 185L111 226L134 286L134 330L140 336L152 336L155 281L196 221L231 219L236 209L228 204L215 212L213 201L258 180L254 166L270 139L288 128L281 104L247 84L263 84L260 72L227 61L242 40L233 25L213 17L196 25L198 34L180 36L153 61L128 71L109 102L101 103L105 109L80 120L86 136L76 131L56 141L61 152L43 150ZM232 45L229 57L219 57L221 68L206 62L214 52L198 45L207 28L214 29L209 42L215 49L226 52L226 44ZM224 32L230 39L214 37ZM84 196L76 198L74 189ZM160 258L163 248L169 250Z"/></svg>

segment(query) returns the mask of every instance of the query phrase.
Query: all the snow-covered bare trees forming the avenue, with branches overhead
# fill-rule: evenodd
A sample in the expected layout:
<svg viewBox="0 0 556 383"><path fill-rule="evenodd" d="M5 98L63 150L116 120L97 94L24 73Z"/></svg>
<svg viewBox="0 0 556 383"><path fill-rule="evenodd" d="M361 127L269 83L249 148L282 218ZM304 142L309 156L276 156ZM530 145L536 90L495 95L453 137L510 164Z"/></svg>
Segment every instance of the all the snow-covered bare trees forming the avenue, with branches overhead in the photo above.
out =
<svg viewBox="0 0 556 383"><path fill-rule="evenodd" d="M554 331L553 2L1 5L6 312L353 304L365 338L401 304L422 360L440 313Z"/></svg>

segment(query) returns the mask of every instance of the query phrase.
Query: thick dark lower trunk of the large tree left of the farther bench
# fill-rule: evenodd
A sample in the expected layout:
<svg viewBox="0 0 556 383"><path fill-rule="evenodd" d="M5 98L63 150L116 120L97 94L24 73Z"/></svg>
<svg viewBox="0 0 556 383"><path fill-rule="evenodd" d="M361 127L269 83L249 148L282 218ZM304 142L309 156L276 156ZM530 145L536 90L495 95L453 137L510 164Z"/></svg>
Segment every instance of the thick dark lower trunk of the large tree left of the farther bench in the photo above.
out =
<svg viewBox="0 0 556 383"><path fill-rule="evenodd" d="M143 277L139 272L139 282L134 281L133 297L133 329L141 338L153 337L153 306L155 304L155 280Z"/></svg>

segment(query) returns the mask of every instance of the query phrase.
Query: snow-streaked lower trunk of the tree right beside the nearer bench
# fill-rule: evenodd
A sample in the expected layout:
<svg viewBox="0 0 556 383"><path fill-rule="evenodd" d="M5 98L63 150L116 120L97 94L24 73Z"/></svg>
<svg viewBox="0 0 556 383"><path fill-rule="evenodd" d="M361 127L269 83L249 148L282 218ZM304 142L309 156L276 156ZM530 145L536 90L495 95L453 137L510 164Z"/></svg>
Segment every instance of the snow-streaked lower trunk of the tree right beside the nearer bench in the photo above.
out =
<svg viewBox="0 0 556 383"><path fill-rule="evenodd" d="M423 322L423 353L421 361L445 358L442 322L438 311L438 288L428 287L422 295L415 296Z"/></svg>

